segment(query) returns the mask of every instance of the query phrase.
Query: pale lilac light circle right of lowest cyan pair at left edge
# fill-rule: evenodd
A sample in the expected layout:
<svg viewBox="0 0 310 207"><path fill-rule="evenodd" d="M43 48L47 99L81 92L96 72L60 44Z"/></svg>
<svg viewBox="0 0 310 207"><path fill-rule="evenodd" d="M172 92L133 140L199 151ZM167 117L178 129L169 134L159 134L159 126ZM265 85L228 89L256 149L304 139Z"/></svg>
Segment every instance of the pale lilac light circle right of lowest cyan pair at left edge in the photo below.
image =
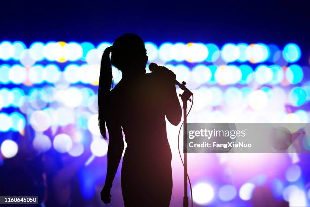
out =
<svg viewBox="0 0 310 207"><path fill-rule="evenodd" d="M43 132L51 126L50 116L45 111L34 111L30 116L30 125L34 130Z"/></svg>

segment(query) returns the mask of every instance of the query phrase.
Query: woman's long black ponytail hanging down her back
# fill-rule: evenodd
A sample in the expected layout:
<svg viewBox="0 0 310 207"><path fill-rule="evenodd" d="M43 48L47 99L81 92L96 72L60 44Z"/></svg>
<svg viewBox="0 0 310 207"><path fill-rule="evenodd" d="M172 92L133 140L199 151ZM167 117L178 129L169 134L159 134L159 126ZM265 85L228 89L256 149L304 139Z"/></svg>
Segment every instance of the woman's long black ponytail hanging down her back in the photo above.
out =
<svg viewBox="0 0 310 207"><path fill-rule="evenodd" d="M105 131L106 111L113 81L110 52L112 52L112 46L106 48L103 52L98 88L98 125L104 139L107 139Z"/></svg>

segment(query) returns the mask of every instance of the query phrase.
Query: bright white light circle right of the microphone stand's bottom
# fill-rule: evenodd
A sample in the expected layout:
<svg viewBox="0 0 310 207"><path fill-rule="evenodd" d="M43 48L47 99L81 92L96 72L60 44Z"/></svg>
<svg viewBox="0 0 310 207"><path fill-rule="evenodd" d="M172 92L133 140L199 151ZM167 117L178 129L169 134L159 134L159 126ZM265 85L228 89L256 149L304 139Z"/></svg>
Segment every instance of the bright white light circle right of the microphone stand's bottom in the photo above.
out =
<svg viewBox="0 0 310 207"><path fill-rule="evenodd" d="M214 190L208 183L198 183L192 188L193 201L199 205L209 203L214 197Z"/></svg>

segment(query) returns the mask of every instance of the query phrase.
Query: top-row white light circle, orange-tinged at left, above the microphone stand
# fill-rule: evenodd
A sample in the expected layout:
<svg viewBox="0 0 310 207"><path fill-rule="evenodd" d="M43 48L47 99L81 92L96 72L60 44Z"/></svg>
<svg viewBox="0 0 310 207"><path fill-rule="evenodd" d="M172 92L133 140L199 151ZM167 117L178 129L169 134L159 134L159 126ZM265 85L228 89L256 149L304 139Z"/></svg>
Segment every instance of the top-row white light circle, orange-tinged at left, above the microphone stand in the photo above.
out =
<svg viewBox="0 0 310 207"><path fill-rule="evenodd" d="M202 43L188 43L186 54L188 62L202 62L208 57L209 51Z"/></svg>

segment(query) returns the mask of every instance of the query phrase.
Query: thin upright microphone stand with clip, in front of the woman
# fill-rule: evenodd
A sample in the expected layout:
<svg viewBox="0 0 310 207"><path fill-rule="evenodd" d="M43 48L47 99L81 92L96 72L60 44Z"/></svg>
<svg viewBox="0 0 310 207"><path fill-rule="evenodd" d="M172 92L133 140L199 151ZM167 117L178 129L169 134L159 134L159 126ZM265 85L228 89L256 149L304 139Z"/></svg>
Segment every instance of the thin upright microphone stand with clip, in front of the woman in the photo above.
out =
<svg viewBox="0 0 310 207"><path fill-rule="evenodd" d="M184 92L179 96L183 102L183 151L184 153L184 197L183 197L183 206L188 207L188 194L187 194L187 101L191 102L190 97L192 96L192 92L186 88L186 82L179 83L176 81L176 85L178 85Z"/></svg>

